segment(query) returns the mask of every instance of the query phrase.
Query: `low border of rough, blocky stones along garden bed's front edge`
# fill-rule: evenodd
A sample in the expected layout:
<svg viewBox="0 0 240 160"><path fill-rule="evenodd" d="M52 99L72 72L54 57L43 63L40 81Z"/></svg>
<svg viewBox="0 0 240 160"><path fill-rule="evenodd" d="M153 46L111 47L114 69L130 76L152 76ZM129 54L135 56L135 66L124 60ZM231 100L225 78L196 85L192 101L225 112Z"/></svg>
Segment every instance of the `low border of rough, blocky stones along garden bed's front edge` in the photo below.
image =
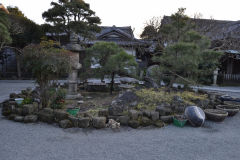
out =
<svg viewBox="0 0 240 160"><path fill-rule="evenodd" d="M88 112L80 112L76 117L66 110L42 109L37 102L25 104L21 107L15 102L15 98L34 98L34 91L24 90L20 94L12 93L10 98L2 103L2 115L9 120L24 123L36 123L38 121L48 124L57 123L61 128L119 128L121 126L138 127L163 127L173 123L173 110L168 106L158 106L155 111L139 111L130 109L123 111L119 106L111 106L108 109L98 111L97 116L91 116ZM215 100L215 97L210 99Z"/></svg>

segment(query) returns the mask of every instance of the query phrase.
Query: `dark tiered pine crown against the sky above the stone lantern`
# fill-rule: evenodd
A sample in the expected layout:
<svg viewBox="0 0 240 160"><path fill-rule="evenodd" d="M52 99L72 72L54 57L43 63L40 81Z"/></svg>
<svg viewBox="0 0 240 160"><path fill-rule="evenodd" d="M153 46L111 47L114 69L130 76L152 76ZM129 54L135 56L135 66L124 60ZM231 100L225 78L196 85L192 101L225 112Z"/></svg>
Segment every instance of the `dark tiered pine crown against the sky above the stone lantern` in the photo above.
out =
<svg viewBox="0 0 240 160"><path fill-rule="evenodd" d="M71 32L80 34L84 38L92 38L93 32L99 32L97 26L100 18L90 9L90 5L83 0L59 0L51 2L52 8L42 14L50 24L49 31L53 33Z"/></svg>

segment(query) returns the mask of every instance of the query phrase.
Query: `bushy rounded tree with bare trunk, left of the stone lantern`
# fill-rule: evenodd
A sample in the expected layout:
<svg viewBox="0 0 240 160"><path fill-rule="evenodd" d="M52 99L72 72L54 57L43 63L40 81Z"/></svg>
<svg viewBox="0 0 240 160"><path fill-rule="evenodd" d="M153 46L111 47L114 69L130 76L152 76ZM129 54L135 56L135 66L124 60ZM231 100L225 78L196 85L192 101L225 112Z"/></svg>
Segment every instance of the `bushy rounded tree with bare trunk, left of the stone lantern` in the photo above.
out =
<svg viewBox="0 0 240 160"><path fill-rule="evenodd" d="M42 42L39 45L28 45L23 49L25 68L33 73L40 86L43 106L48 106L48 88L51 80L68 73L71 52L51 46L52 42Z"/></svg>

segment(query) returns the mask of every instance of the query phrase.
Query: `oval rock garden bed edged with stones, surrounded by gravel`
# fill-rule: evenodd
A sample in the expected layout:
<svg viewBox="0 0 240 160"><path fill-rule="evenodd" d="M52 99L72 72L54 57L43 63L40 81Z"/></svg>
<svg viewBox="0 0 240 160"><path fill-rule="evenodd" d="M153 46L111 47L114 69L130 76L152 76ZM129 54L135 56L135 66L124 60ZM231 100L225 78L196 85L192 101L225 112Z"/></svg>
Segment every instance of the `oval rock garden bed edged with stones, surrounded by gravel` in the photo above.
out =
<svg viewBox="0 0 240 160"><path fill-rule="evenodd" d="M80 86L79 86L80 87ZM66 88L49 89L51 99L42 107L39 89L12 93L2 103L2 114L9 120L23 123L45 122L61 128L120 128L129 126L164 127L185 124L199 127L205 118L223 121L239 111L237 102L231 104L221 95L192 90L169 90L135 87L122 91L89 92L80 90L77 100L65 99ZM189 107L197 106L197 107ZM187 123L186 123L187 122Z"/></svg>

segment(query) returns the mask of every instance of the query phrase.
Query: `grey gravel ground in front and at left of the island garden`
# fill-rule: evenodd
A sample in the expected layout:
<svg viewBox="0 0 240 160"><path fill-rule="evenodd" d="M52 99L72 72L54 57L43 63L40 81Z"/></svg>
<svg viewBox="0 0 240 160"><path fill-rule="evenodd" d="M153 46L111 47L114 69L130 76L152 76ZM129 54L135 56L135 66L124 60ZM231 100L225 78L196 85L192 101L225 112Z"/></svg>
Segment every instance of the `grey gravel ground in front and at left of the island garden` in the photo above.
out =
<svg viewBox="0 0 240 160"><path fill-rule="evenodd" d="M14 85L0 82L0 96L20 89ZM240 114L203 128L64 130L0 116L0 160L239 160L239 123Z"/></svg>

